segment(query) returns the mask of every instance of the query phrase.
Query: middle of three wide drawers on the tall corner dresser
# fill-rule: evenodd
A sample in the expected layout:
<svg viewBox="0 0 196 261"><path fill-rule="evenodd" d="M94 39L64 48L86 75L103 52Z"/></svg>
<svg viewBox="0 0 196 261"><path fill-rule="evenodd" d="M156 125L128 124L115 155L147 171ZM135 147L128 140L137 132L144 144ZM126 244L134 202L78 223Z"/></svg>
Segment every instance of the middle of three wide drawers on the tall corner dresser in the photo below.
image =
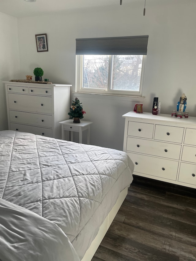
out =
<svg viewBox="0 0 196 261"><path fill-rule="evenodd" d="M12 122L52 128L52 115L9 110Z"/></svg>

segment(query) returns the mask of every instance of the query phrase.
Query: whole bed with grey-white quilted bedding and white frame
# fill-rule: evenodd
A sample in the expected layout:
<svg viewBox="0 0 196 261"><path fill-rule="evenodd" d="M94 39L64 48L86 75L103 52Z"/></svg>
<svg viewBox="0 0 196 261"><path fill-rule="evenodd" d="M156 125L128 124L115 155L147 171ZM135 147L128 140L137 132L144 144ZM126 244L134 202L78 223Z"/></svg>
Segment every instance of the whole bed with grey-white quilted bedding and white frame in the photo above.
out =
<svg viewBox="0 0 196 261"><path fill-rule="evenodd" d="M0 259L90 261L133 170L123 151L0 131Z"/></svg>

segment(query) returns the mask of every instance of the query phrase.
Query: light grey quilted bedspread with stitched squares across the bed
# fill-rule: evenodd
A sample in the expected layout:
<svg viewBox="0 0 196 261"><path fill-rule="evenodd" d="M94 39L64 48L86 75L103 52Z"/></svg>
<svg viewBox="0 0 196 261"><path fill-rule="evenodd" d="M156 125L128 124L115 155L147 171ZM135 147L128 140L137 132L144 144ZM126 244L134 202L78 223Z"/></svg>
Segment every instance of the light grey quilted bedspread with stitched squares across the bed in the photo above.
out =
<svg viewBox="0 0 196 261"><path fill-rule="evenodd" d="M123 151L0 132L0 198L56 223L71 242L122 175L120 190L130 185L133 168Z"/></svg>

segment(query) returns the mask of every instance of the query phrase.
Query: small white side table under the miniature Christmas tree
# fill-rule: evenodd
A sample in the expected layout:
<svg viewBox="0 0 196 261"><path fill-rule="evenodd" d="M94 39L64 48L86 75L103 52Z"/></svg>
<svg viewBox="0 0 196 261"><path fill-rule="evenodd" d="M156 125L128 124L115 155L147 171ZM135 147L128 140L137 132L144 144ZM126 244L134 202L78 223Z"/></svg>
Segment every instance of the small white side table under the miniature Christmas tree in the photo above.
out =
<svg viewBox="0 0 196 261"><path fill-rule="evenodd" d="M87 144L90 143L90 124L92 121L80 121L73 123L73 119L59 122L62 125L62 140L64 140L64 131L70 131L70 138L73 141L74 132L79 132L79 143L82 143L82 131L87 130Z"/></svg>

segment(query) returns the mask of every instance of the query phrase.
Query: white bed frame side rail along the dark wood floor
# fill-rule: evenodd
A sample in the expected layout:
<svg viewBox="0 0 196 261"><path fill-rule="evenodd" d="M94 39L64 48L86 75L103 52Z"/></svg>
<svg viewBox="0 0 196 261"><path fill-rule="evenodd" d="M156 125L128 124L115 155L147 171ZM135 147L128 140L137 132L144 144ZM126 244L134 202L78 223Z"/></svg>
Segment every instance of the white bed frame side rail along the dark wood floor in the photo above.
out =
<svg viewBox="0 0 196 261"><path fill-rule="evenodd" d="M103 224L99 228L99 232L97 233L95 239L92 241L90 247L87 249L87 251L81 261L90 261L93 258L97 248L99 247L108 228L110 227L117 212L119 211L119 208L121 207L124 199L126 198L127 192L128 192L128 188L125 188L123 191L120 192L120 195L119 195L114 207L111 209L111 211L109 212L107 217L104 219Z"/></svg>

